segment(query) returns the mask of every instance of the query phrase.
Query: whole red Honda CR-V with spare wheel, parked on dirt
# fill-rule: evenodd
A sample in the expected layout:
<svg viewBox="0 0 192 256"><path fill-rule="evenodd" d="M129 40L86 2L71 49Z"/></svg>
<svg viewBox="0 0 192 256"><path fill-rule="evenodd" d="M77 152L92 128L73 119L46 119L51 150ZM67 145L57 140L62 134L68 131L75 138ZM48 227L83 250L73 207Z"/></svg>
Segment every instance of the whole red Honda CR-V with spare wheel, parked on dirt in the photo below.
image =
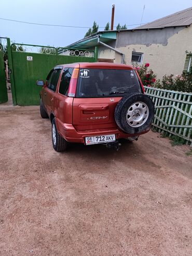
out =
<svg viewBox="0 0 192 256"><path fill-rule="evenodd" d="M54 67L40 91L40 115L52 124L52 145L103 143L119 149L118 139L135 140L149 131L154 104L144 94L132 66L74 63Z"/></svg>

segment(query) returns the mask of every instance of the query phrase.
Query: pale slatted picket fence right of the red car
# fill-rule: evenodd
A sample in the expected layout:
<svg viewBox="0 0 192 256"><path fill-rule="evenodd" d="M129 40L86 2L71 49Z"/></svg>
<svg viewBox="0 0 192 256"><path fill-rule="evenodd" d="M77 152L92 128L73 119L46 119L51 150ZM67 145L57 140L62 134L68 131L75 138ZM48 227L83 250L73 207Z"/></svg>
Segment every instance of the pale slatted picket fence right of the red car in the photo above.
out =
<svg viewBox="0 0 192 256"><path fill-rule="evenodd" d="M153 126L192 145L192 93L145 87L155 103Z"/></svg>

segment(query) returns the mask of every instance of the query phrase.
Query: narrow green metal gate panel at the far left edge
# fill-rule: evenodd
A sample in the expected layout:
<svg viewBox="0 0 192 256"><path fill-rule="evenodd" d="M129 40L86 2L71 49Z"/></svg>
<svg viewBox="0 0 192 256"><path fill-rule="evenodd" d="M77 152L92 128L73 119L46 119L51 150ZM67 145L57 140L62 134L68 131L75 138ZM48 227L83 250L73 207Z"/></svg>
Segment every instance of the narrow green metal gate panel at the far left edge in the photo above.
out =
<svg viewBox="0 0 192 256"><path fill-rule="evenodd" d="M5 78L5 66L3 58L3 46L0 44L0 104L7 102L7 86Z"/></svg>

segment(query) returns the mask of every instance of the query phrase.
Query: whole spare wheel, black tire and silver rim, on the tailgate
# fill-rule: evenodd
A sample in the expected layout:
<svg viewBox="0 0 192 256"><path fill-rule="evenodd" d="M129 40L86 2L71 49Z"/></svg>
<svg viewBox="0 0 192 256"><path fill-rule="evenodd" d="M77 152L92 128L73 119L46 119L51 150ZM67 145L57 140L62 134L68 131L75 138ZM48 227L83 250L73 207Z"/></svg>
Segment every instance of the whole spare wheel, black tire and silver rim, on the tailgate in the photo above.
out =
<svg viewBox="0 0 192 256"><path fill-rule="evenodd" d="M154 103L146 94L128 94L115 108L116 124L130 134L145 131L152 124L153 117Z"/></svg>

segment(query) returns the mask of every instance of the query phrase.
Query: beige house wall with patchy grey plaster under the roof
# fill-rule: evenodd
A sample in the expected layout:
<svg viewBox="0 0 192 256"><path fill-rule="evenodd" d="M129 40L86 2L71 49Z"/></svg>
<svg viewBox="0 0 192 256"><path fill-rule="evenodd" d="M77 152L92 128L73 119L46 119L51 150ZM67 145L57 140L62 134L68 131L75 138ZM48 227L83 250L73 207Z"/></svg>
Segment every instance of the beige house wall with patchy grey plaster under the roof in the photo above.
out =
<svg viewBox="0 0 192 256"><path fill-rule="evenodd" d="M192 26L163 29L121 31L117 35L116 48L125 54L126 64L131 64L132 52L144 53L143 63L149 63L159 79L164 75L181 74L186 53L192 52ZM108 51L108 50L107 50ZM110 53L111 54L111 53ZM105 50L102 51L103 58ZM109 52L107 52L109 58ZM115 53L115 62L121 56Z"/></svg>

